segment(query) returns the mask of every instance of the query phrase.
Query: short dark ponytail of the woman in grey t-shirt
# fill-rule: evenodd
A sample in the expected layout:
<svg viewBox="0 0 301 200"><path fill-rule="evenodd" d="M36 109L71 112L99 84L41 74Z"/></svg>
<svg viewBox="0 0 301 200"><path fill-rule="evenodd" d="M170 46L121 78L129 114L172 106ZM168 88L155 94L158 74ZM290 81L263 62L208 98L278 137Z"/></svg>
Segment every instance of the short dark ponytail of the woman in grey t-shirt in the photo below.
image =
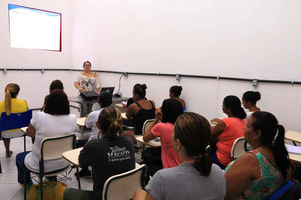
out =
<svg viewBox="0 0 301 200"><path fill-rule="evenodd" d="M201 172L200 175L209 176L212 167L212 160L208 153L205 152L202 154L202 157L195 159L192 166L194 166L197 171Z"/></svg>

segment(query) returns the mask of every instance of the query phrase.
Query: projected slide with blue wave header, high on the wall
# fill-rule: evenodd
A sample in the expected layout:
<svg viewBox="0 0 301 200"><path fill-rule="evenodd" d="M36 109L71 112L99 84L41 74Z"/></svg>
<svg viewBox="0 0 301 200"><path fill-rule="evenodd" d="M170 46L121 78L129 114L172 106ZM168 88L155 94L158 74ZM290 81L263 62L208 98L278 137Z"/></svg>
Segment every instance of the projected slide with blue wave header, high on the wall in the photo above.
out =
<svg viewBox="0 0 301 200"><path fill-rule="evenodd" d="M11 47L61 51L61 14L8 4Z"/></svg>

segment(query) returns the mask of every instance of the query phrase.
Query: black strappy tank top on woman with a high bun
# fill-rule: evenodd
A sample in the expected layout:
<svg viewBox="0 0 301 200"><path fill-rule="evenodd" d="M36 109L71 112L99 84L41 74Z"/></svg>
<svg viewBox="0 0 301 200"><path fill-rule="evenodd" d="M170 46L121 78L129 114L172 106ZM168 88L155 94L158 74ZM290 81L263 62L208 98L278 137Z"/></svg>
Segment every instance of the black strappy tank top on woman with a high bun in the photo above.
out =
<svg viewBox="0 0 301 200"><path fill-rule="evenodd" d="M154 107L154 104L151 102L152 108L149 110L146 110L141 107L141 105L138 102L135 102L139 108L139 111L137 114L135 114L134 119L134 125L135 125L135 135L141 135L142 134L142 128L143 124L146 120L153 120L156 117L156 108Z"/></svg>

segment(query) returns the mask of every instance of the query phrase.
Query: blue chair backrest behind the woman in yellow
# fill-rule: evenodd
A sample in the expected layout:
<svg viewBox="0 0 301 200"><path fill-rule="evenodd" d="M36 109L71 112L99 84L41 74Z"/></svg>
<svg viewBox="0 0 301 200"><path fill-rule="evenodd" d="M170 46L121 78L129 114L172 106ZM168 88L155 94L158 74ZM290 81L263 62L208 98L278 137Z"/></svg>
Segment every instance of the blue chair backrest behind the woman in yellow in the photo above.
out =
<svg viewBox="0 0 301 200"><path fill-rule="evenodd" d="M0 117L0 132L26 127L29 125L31 118L33 118L31 109L23 113L11 113L10 115L3 112Z"/></svg>

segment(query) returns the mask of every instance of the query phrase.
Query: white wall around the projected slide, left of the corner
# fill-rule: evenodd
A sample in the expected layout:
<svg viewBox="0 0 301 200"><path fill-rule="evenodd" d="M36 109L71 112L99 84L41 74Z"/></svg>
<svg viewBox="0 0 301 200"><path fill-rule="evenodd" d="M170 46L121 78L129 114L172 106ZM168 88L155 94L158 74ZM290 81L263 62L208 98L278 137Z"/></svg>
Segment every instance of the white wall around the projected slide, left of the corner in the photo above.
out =
<svg viewBox="0 0 301 200"><path fill-rule="evenodd" d="M62 14L62 51L11 48L9 40L8 3ZM2 0L0 3L0 62L1 68L72 68L72 0ZM71 75L72 74L72 75ZM8 83L19 84L18 98L25 99L30 108L41 108L44 97L49 92L52 80L62 80L67 95L76 95L72 87L75 72L67 71L8 71L0 72L0 99L4 99L4 88ZM76 111L76 109L75 109Z"/></svg>

